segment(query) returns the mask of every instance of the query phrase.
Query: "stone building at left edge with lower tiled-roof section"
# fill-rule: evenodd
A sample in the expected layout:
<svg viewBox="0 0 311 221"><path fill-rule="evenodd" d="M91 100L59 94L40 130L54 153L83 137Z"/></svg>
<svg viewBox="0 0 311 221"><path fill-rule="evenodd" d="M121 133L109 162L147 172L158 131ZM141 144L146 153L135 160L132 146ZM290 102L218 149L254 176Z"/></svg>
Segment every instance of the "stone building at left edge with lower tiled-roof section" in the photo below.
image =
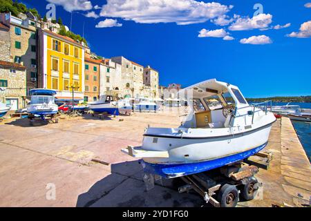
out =
<svg viewBox="0 0 311 221"><path fill-rule="evenodd" d="M25 106L26 67L11 61L10 14L0 17L0 101L15 111Z"/></svg>

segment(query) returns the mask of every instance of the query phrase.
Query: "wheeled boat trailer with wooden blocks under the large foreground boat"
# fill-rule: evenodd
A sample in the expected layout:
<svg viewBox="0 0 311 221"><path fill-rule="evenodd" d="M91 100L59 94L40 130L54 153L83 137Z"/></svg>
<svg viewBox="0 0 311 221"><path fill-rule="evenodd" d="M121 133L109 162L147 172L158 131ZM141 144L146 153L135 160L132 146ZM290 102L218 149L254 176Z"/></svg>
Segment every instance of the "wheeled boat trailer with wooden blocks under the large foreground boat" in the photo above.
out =
<svg viewBox="0 0 311 221"><path fill-rule="evenodd" d="M258 157L262 159L258 160ZM249 157L244 161L173 179L181 179L185 182L185 185L178 187L179 193L189 193L189 191L194 190L202 196L206 203L210 203L212 206L235 207L240 196L244 200L255 198L262 184L254 175L258 173L258 167L267 169L270 160L272 160L271 153L257 153L254 157ZM260 162L263 162L263 166ZM158 175L145 173L143 180L147 191L153 188L155 180L161 179Z"/></svg>

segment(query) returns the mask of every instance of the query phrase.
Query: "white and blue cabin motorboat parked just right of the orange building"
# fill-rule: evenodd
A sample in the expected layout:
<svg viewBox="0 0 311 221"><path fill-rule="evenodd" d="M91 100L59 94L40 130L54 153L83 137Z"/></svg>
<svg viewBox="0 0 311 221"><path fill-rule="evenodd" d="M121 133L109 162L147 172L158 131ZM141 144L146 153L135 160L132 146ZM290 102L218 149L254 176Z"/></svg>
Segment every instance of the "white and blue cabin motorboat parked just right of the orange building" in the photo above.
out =
<svg viewBox="0 0 311 221"><path fill-rule="evenodd" d="M132 106L129 99L120 99L115 95L102 95L99 100L88 104L88 108L96 113L109 115L131 114Z"/></svg>

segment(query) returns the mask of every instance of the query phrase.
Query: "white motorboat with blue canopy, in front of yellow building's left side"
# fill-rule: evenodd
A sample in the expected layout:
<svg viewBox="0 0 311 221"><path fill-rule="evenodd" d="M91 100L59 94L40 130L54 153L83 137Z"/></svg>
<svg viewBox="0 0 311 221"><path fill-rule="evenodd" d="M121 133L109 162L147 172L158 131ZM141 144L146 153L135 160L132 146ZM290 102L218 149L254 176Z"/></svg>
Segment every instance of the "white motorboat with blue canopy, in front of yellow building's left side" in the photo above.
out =
<svg viewBox="0 0 311 221"><path fill-rule="evenodd" d="M55 90L32 89L29 93L31 95L31 101L27 106L28 113L39 115L40 117L55 115L57 113L58 106L55 104Z"/></svg>

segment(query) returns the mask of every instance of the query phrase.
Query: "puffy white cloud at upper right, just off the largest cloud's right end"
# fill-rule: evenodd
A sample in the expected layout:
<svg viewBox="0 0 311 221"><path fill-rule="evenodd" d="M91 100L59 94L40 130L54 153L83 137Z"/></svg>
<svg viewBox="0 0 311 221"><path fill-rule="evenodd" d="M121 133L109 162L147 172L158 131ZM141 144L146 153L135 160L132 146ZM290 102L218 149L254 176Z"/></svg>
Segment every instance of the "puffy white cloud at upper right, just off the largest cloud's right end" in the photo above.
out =
<svg viewBox="0 0 311 221"><path fill-rule="evenodd" d="M259 14L252 18L234 16L236 21L229 26L229 30L252 30L256 28L267 28L272 23L272 15Z"/></svg>

